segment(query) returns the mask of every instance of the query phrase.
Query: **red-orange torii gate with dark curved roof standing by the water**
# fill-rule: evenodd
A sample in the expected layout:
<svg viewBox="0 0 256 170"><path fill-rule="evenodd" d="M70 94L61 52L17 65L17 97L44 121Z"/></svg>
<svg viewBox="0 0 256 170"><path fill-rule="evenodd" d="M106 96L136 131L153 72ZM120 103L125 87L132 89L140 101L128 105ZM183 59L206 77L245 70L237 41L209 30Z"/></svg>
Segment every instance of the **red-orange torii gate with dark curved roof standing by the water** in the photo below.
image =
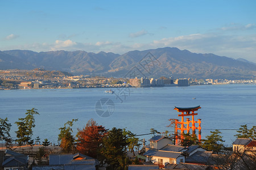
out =
<svg viewBox="0 0 256 170"><path fill-rule="evenodd" d="M196 134L196 129L198 129L198 139L201 140L201 119L198 119L198 121L195 121L194 116L197 115L195 111L198 111L198 109L201 109L200 105L197 107L191 107L191 108L180 108L175 107L174 110L177 112L181 112L181 114L178 114L178 116L181 116L181 121L179 122L177 119L175 119L175 136L176 136L176 143L177 143L177 130L180 130L181 138L183 138L184 130L187 130L187 133L189 133L189 130L192 129L192 134ZM184 114L185 112L185 114ZM192 112L192 113L190 113ZM192 116L192 120L189 120L189 118L186 118L187 121L184 121L184 116ZM192 126L189 126L189 124L192 123ZM178 128L178 124L181 125L180 128ZM198 124L198 127L195 126L195 124ZM186 127L184 125L187 125Z"/></svg>

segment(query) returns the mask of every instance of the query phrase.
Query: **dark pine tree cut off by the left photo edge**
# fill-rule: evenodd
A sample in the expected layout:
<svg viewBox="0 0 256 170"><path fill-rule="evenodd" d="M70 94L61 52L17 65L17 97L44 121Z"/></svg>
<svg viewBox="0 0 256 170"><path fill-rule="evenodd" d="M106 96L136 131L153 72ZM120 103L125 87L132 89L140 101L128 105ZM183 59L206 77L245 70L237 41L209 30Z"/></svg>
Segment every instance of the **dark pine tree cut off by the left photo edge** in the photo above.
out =
<svg viewBox="0 0 256 170"><path fill-rule="evenodd" d="M10 136L11 124L8 124L8 118L0 118L0 138L6 142L6 146L12 147L12 139Z"/></svg>

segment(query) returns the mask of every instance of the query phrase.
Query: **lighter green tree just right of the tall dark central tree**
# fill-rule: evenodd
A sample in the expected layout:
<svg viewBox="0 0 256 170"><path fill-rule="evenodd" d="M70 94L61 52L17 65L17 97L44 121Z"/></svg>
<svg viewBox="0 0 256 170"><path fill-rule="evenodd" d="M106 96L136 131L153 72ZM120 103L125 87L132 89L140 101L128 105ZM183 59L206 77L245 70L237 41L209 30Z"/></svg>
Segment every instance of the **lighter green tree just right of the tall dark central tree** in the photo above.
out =
<svg viewBox="0 0 256 170"><path fill-rule="evenodd" d="M133 156L135 156L134 153L134 147L139 147L141 146L141 143L139 143L139 138L136 138L134 133L131 133L131 131L123 129L123 135L126 136L126 142L128 144L128 149L130 152L133 152Z"/></svg>

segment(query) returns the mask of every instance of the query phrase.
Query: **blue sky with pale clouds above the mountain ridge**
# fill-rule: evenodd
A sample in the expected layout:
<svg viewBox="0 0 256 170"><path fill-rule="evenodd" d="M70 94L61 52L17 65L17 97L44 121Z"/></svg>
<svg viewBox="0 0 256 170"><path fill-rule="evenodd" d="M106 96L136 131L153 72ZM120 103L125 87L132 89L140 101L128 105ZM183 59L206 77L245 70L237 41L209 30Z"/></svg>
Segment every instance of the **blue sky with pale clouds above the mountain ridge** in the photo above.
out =
<svg viewBox="0 0 256 170"><path fill-rule="evenodd" d="M0 0L0 50L123 54L166 46L256 63L255 0Z"/></svg>

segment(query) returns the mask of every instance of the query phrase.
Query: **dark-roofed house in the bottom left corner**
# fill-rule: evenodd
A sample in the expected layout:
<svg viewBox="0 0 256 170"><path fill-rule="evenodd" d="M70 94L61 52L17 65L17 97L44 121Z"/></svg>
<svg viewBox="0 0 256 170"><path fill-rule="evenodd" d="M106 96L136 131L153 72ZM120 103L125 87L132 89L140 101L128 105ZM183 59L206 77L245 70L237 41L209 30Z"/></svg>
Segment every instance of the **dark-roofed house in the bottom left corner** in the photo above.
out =
<svg viewBox="0 0 256 170"><path fill-rule="evenodd" d="M6 150L5 155L3 156L2 167L5 170L27 169L28 155L23 155L14 151Z"/></svg>

